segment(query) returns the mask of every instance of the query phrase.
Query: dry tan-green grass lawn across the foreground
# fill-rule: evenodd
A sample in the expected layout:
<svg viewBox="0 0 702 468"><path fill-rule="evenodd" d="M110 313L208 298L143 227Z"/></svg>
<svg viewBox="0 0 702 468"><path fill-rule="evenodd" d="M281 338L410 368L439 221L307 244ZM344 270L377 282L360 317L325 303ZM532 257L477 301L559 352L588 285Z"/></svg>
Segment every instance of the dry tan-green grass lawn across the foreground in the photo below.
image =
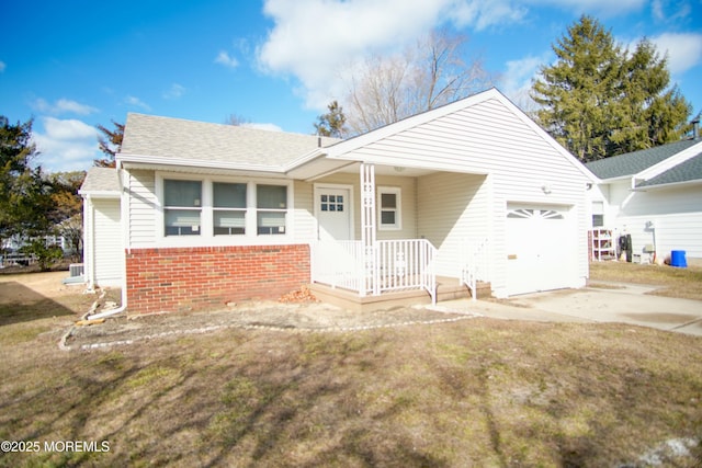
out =
<svg viewBox="0 0 702 468"><path fill-rule="evenodd" d="M227 329L63 352L73 317L23 316L0 309L0 440L42 450L2 454L0 466L702 460L695 336L475 319L354 333ZM43 450L53 441L105 441L109 452ZM667 454L668 441L690 453Z"/></svg>

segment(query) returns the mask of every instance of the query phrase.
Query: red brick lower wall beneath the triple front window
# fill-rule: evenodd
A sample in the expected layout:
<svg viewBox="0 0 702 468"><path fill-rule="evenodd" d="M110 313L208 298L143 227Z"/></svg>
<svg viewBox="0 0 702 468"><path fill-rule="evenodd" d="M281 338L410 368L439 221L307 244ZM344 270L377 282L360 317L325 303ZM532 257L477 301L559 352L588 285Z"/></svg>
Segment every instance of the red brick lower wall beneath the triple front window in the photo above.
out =
<svg viewBox="0 0 702 468"><path fill-rule="evenodd" d="M126 273L131 313L224 308L309 283L309 247L132 249Z"/></svg>

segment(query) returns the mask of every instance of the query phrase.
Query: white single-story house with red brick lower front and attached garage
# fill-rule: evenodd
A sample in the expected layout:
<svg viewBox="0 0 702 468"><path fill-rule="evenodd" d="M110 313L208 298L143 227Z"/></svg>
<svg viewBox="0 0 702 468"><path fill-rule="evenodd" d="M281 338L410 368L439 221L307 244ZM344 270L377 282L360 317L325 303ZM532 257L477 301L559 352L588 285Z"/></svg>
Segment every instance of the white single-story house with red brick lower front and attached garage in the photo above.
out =
<svg viewBox="0 0 702 468"><path fill-rule="evenodd" d="M100 255L122 252L131 312L309 283L434 296L440 276L506 297L588 276L597 179L494 89L344 141L129 114L116 161L118 187L93 170L81 191L86 262L100 284Z"/></svg>

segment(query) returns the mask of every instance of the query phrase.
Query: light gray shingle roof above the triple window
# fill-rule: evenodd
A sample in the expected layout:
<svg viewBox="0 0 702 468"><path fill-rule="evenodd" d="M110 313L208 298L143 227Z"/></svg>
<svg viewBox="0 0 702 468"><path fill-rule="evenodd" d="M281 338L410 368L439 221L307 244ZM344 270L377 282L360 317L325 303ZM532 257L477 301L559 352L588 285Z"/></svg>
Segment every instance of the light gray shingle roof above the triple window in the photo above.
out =
<svg viewBox="0 0 702 468"><path fill-rule="evenodd" d="M121 152L280 167L318 147L318 136L131 113ZM321 145L340 140L321 137Z"/></svg>

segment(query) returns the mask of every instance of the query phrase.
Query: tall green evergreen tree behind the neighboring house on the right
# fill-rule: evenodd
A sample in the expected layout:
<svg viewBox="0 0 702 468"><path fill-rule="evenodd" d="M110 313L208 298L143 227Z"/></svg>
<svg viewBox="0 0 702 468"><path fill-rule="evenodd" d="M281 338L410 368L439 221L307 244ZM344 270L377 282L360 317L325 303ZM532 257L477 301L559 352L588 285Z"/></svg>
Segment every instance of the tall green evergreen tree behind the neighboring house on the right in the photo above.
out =
<svg viewBox="0 0 702 468"><path fill-rule="evenodd" d="M630 54L590 16L553 46L558 60L541 68L532 98L541 125L584 162L675 141L691 106L647 39Z"/></svg>

